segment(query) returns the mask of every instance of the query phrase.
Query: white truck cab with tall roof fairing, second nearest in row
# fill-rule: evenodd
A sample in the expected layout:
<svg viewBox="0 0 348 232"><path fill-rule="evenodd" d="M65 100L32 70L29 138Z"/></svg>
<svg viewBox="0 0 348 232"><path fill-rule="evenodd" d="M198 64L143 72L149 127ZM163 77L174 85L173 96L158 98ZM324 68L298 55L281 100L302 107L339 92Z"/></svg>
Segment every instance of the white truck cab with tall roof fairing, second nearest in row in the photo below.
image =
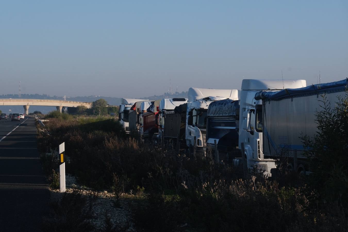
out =
<svg viewBox="0 0 348 232"><path fill-rule="evenodd" d="M206 124L209 104L222 99L238 100L237 89L189 88L185 140L188 153L206 155Z"/></svg>

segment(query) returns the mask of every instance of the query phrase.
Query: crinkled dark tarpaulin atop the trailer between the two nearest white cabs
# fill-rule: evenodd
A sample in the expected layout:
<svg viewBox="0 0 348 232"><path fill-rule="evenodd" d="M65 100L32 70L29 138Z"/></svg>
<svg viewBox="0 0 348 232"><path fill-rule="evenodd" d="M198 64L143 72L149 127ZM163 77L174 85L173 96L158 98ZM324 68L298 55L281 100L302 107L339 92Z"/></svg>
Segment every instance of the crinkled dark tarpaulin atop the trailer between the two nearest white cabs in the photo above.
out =
<svg viewBox="0 0 348 232"><path fill-rule="evenodd" d="M239 109L239 100L223 99L209 104L208 116L232 116Z"/></svg>

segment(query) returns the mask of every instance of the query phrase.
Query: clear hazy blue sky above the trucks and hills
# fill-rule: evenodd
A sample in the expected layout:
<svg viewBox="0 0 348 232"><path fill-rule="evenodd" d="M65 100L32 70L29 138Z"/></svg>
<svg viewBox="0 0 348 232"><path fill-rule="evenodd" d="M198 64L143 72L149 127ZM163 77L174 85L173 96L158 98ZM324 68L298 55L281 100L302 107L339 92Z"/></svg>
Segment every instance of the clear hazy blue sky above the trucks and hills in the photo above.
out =
<svg viewBox="0 0 348 232"><path fill-rule="evenodd" d="M348 1L0 1L0 95L348 77Z"/></svg>

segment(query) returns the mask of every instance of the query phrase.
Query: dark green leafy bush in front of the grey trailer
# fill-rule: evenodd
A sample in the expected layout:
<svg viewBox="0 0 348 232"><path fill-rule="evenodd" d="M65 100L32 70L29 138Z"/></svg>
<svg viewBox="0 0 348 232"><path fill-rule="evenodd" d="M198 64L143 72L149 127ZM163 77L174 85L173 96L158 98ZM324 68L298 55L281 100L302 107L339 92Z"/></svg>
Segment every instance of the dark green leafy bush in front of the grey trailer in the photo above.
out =
<svg viewBox="0 0 348 232"><path fill-rule="evenodd" d="M315 200L338 201L343 207L348 207L347 99L348 94L330 104L324 96L322 110L315 113L318 134L301 136L313 171L309 186L318 192Z"/></svg>

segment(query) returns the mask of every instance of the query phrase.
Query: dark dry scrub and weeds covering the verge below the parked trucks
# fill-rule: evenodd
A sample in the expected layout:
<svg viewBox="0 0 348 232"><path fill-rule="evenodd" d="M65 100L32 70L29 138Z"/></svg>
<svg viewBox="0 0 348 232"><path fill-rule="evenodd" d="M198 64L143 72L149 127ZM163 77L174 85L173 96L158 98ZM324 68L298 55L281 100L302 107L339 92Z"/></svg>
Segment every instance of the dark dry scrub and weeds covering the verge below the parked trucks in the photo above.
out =
<svg viewBox="0 0 348 232"><path fill-rule="evenodd" d="M318 135L302 137L315 170L309 177L280 171L270 180L254 170L240 178L238 169L215 164L209 154L190 159L140 143L117 120L102 117L52 113L38 147L52 187L58 161L50 154L65 142L66 172L117 199L134 198L132 220L140 231L347 231L347 109L346 99L334 109L324 106L317 113ZM86 203L76 195L69 199ZM83 220L76 222L89 231Z"/></svg>

